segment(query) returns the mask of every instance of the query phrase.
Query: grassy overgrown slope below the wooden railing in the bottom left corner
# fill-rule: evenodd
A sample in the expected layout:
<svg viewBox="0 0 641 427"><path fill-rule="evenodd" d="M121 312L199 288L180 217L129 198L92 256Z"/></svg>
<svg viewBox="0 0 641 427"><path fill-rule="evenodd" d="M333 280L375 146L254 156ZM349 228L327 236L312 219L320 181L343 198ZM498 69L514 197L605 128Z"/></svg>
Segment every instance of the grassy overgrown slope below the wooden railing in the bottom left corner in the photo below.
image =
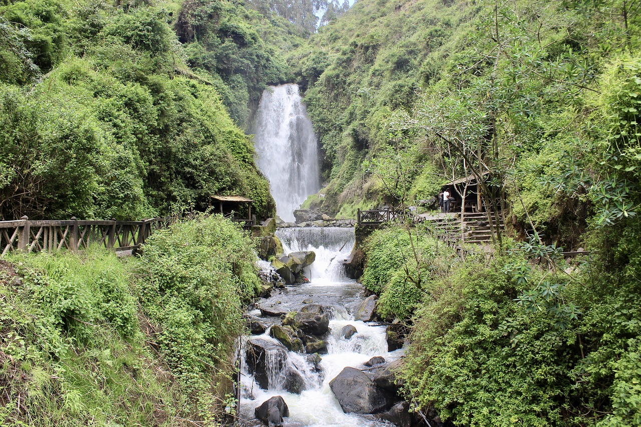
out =
<svg viewBox="0 0 641 427"><path fill-rule="evenodd" d="M115 254L0 260L0 383L6 425L154 425L180 413L145 350L130 274Z"/></svg>

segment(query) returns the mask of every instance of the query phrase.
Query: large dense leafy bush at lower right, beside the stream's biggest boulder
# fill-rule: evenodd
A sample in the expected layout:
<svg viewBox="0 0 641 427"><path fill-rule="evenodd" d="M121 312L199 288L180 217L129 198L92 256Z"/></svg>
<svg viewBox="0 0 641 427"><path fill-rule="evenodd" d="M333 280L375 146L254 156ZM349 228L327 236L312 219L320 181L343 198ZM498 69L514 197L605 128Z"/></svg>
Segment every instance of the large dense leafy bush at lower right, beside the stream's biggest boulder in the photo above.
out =
<svg viewBox="0 0 641 427"><path fill-rule="evenodd" d="M406 392L457 425L564 425L576 399L576 331L515 303L504 262L470 262L432 283L414 318Z"/></svg>

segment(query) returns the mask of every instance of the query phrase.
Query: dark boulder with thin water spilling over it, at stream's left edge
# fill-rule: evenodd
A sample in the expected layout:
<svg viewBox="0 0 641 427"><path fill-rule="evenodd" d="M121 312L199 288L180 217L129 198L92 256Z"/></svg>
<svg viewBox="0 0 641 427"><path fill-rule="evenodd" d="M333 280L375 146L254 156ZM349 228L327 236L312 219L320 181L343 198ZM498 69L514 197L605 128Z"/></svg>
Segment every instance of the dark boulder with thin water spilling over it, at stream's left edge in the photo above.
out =
<svg viewBox="0 0 641 427"><path fill-rule="evenodd" d="M267 366L267 361L272 366ZM262 338L247 340L246 348L247 369L254 375L254 380L261 389L269 390L270 385L276 386L279 378L274 378L274 371L283 371L287 364L287 350L284 346ZM275 364L275 366L274 366Z"/></svg>

